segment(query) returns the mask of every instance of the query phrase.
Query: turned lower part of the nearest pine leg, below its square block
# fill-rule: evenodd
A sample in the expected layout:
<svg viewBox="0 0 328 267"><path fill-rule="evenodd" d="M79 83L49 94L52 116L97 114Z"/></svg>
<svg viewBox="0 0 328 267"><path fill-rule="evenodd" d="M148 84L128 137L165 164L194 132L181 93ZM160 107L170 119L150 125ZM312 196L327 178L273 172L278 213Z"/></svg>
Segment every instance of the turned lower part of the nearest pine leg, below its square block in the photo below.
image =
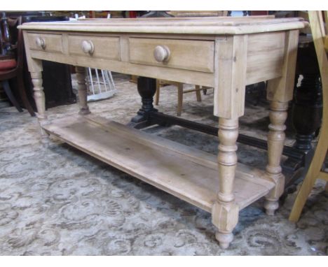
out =
<svg viewBox="0 0 328 267"><path fill-rule="evenodd" d="M238 138L238 118L219 118L219 193L212 207L212 223L217 226L215 237L221 248L227 248L233 240L233 229L238 223L238 205L235 204L233 181L237 165L236 140Z"/></svg>

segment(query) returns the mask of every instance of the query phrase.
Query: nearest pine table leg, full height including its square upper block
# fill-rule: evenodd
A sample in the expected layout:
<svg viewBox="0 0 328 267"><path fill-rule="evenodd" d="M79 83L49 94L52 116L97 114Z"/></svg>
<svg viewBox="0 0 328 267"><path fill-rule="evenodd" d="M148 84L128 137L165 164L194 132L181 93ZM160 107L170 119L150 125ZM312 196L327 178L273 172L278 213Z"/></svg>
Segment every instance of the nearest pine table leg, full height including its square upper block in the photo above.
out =
<svg viewBox="0 0 328 267"><path fill-rule="evenodd" d="M214 86L214 115L219 117L219 192L212 206L215 237L221 248L233 240L239 207L235 203L233 182L237 166L238 118L244 115L247 68L247 35L228 36L216 43L217 84ZM224 63L224 68L219 64Z"/></svg>

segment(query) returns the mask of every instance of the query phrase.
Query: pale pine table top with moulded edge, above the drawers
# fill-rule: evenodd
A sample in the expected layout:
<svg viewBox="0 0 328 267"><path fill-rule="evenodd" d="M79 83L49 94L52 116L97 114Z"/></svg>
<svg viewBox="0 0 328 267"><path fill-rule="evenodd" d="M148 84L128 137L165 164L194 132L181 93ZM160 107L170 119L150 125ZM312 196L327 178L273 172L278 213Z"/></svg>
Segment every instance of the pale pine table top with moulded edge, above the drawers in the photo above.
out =
<svg viewBox="0 0 328 267"><path fill-rule="evenodd" d="M303 29L301 17L160 17L128 19L85 19L63 22L29 22L20 29L44 31L97 31L153 34L254 34Z"/></svg>

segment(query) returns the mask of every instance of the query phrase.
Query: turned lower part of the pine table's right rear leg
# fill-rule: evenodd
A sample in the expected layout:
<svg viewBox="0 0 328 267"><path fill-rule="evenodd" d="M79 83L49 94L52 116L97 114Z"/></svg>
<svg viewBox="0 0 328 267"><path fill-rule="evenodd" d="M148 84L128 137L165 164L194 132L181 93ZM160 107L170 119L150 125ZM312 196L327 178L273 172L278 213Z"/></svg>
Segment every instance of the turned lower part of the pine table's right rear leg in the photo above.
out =
<svg viewBox="0 0 328 267"><path fill-rule="evenodd" d="M268 133L268 165L266 166L266 174L270 180L275 182L275 187L266 196L267 215L274 215L278 209L278 200L285 187L285 176L282 175L280 159L285 140L285 120L287 119L287 102L271 101L270 122Z"/></svg>

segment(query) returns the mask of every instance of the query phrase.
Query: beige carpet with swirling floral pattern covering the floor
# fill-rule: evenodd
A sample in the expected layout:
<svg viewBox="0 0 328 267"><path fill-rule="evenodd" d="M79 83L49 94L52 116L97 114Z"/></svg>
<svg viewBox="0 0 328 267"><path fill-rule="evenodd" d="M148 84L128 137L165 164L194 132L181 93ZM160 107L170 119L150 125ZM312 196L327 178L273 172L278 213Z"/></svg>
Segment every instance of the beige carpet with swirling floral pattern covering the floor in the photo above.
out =
<svg viewBox="0 0 328 267"><path fill-rule="evenodd" d="M90 103L90 110L128 123L139 108L136 85L115 76L118 92ZM217 126L212 94L196 102L184 94L182 117ZM177 89L165 87L158 109L174 115ZM122 108L124 107L124 108ZM267 103L247 101L240 132L266 138ZM76 104L48 110L48 117L78 111ZM147 131L217 153L217 138L181 127ZM317 182L297 224L288 221L296 193L274 217L263 201L240 212L235 238L221 250L210 214L53 140L40 143L36 119L13 107L0 108L1 255L327 255L328 194ZM287 145L293 143L287 132ZM264 168L266 152L238 145L238 160ZM156 170L150 170L156 171Z"/></svg>

